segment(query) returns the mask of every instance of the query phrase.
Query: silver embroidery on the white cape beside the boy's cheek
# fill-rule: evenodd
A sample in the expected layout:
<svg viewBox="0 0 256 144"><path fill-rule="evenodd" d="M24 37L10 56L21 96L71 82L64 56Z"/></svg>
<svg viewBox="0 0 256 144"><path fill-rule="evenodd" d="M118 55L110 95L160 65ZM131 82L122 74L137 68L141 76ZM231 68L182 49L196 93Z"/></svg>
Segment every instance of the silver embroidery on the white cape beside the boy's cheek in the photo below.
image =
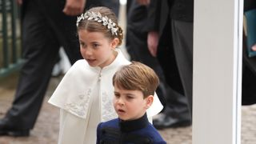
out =
<svg viewBox="0 0 256 144"><path fill-rule="evenodd" d="M112 98L104 92L102 94L102 121L106 122L110 119L118 118L118 114L115 113Z"/></svg>

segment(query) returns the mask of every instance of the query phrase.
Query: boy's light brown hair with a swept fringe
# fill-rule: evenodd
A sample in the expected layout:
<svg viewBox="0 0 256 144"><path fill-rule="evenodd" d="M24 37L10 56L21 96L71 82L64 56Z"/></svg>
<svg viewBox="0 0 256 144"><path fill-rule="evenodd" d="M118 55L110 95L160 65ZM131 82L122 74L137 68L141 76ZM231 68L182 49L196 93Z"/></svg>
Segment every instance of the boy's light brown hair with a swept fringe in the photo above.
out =
<svg viewBox="0 0 256 144"><path fill-rule="evenodd" d="M132 62L123 66L113 77L113 86L125 90L140 90L144 98L154 95L158 84L159 79L154 70L141 62Z"/></svg>

